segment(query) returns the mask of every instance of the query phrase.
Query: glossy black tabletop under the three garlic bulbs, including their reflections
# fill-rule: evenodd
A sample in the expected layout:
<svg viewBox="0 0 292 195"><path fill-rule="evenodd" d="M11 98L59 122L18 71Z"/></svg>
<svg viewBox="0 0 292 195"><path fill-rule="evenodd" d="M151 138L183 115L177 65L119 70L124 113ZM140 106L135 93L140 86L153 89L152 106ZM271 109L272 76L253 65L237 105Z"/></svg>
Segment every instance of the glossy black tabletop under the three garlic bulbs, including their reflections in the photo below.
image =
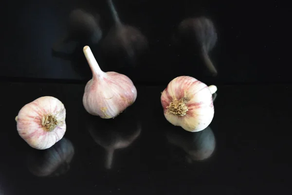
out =
<svg viewBox="0 0 292 195"><path fill-rule="evenodd" d="M165 120L165 86L137 86L136 102L109 120L85 111L84 87L0 83L2 194L291 194L291 85L218 86L213 122L199 133ZM45 95L64 103L67 131L37 151L15 116Z"/></svg>

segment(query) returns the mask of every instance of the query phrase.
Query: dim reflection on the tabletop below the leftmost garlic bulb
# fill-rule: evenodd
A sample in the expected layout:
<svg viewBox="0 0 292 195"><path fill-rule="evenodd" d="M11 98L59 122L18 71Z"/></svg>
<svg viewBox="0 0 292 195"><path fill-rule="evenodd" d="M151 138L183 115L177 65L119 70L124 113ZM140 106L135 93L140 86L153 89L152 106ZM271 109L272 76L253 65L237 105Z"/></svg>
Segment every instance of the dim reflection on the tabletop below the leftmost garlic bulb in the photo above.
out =
<svg viewBox="0 0 292 195"><path fill-rule="evenodd" d="M53 147L34 151L28 156L28 167L37 177L59 176L67 173L74 156L72 142L63 138Z"/></svg>

